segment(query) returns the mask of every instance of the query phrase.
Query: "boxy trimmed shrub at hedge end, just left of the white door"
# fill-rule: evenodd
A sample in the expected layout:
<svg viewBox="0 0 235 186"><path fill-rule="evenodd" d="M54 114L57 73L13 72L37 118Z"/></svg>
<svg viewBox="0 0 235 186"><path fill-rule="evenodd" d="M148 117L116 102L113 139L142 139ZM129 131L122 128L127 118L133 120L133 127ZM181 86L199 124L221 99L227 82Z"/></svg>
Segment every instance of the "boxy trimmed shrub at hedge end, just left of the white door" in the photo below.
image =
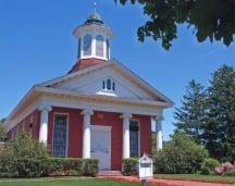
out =
<svg viewBox="0 0 235 186"><path fill-rule="evenodd" d="M97 176L98 164L99 161L97 159L83 159L83 175Z"/></svg>

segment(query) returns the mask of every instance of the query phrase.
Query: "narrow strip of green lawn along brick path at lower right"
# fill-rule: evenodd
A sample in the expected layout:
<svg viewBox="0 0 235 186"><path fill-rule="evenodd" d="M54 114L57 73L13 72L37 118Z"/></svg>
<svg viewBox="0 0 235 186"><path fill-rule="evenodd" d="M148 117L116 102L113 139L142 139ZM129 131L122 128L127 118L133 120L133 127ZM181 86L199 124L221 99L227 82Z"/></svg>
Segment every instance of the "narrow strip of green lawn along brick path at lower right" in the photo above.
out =
<svg viewBox="0 0 235 186"><path fill-rule="evenodd" d="M156 178L181 179L181 181L198 181L211 183L235 184L235 176L222 175L200 175L200 174L156 174Z"/></svg>

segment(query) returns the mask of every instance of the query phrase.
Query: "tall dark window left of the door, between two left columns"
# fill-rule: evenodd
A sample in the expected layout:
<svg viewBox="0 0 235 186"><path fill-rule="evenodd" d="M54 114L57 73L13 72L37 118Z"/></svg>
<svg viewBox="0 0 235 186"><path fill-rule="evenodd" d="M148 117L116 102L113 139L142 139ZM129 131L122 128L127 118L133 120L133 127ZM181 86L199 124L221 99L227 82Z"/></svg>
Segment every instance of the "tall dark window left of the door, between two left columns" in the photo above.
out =
<svg viewBox="0 0 235 186"><path fill-rule="evenodd" d="M53 157L66 157L67 115L54 115Z"/></svg>

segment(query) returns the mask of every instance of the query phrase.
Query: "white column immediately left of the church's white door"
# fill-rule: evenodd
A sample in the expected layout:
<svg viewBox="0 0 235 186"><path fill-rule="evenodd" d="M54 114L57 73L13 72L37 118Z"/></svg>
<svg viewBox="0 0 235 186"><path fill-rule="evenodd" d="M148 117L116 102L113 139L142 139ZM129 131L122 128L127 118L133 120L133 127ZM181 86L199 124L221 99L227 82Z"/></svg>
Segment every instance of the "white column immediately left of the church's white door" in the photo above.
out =
<svg viewBox="0 0 235 186"><path fill-rule="evenodd" d="M90 115L94 114L91 110L84 110L84 131L83 131L83 158L90 158Z"/></svg>

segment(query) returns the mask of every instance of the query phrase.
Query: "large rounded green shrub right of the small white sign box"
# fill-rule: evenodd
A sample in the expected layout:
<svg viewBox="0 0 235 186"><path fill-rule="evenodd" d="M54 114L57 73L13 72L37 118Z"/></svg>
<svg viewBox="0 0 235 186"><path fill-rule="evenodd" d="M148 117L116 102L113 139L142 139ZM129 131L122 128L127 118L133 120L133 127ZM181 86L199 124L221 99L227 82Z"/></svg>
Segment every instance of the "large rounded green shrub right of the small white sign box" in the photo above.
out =
<svg viewBox="0 0 235 186"><path fill-rule="evenodd" d="M163 174L198 173L208 151L184 134L175 134L162 150L156 152L154 172Z"/></svg>

